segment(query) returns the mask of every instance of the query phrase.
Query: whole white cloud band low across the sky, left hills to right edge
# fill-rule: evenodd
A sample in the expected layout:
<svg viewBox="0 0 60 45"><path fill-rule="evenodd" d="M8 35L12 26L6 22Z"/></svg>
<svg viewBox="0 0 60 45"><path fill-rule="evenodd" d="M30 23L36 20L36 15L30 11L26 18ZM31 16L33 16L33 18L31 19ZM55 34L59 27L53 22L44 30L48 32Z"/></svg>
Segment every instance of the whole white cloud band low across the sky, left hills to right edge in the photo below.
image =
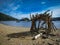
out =
<svg viewBox="0 0 60 45"><path fill-rule="evenodd" d="M42 11L39 11L39 12L32 12L31 14L41 14L41 13L44 13L45 11L47 10L51 10L53 11L53 15L52 17L59 17L60 16L60 6L53 6L53 7L49 7L48 9L46 10L42 10ZM23 14L22 12L20 13L11 13L11 16L15 17L15 18L18 18L18 19L21 19L21 18L24 18L24 17L28 17L30 18L30 14Z"/></svg>

